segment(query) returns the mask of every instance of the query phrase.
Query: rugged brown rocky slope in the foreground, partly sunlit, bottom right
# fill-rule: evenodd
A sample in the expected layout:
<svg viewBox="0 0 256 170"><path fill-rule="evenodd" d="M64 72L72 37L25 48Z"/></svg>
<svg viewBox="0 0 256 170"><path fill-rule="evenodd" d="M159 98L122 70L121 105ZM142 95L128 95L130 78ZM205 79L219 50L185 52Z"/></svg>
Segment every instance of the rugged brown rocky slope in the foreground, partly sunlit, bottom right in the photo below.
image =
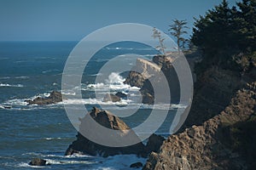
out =
<svg viewBox="0 0 256 170"><path fill-rule="evenodd" d="M255 169L255 116L252 82L218 116L166 139L143 169Z"/></svg>

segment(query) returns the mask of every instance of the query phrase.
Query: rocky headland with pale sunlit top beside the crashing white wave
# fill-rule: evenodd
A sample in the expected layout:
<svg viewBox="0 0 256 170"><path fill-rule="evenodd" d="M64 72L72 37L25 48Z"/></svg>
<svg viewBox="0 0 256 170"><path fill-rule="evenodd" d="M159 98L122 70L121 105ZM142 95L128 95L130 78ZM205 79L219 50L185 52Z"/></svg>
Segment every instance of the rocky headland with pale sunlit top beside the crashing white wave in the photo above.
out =
<svg viewBox="0 0 256 170"><path fill-rule="evenodd" d="M136 71L130 71L128 77L125 79L125 83L131 86L137 86L141 88L141 94L143 95L143 104L154 104L154 88L153 84L160 86L163 78L160 74L162 72L168 82L169 87L163 87L162 94L166 95L166 90L170 89L172 94L172 103L179 101L179 81L177 73L172 67L172 57L165 55L156 55L152 61L146 59L137 59ZM163 100L163 101L162 101ZM160 102L166 102L166 99L160 99Z"/></svg>

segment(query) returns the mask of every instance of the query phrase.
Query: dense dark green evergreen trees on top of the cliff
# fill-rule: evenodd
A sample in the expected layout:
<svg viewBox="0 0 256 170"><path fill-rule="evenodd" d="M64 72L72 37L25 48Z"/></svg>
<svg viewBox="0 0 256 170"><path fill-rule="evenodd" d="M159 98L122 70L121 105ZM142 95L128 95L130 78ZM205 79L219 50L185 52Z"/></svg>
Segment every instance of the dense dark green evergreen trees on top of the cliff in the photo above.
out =
<svg viewBox="0 0 256 170"><path fill-rule="evenodd" d="M245 72L256 66L256 0L236 4L230 8L224 0L195 20L191 42L204 56L197 71L218 65Z"/></svg>

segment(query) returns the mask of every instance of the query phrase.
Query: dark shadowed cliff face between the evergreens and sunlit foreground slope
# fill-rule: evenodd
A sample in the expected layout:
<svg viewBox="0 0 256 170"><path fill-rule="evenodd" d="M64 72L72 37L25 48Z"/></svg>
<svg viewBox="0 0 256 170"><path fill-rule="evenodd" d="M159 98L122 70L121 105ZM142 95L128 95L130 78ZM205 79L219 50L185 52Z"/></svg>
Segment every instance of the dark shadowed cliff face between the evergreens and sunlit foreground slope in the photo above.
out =
<svg viewBox="0 0 256 170"><path fill-rule="evenodd" d="M218 115L230 104L230 100L236 94L236 91L244 87L247 82L252 81L245 81L239 72L223 70L218 67L209 68L201 73L195 82L194 99L189 116L181 130L184 127L201 125L213 116Z"/></svg>

